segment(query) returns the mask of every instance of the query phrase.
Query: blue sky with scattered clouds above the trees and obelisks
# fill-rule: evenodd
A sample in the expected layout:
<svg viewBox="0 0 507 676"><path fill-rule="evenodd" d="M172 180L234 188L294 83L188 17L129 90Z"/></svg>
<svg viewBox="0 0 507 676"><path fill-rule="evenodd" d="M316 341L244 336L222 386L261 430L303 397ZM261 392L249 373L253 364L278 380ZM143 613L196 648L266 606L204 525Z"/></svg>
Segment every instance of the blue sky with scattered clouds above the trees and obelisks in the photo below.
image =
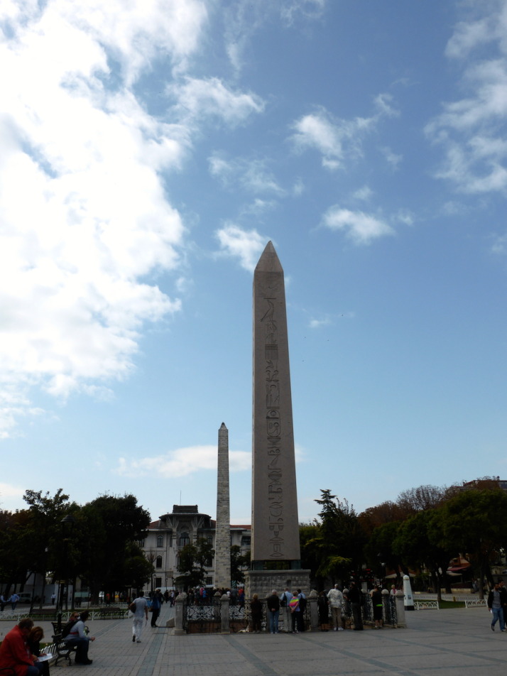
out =
<svg viewBox="0 0 507 676"><path fill-rule="evenodd" d="M507 2L7 0L0 506L250 522L251 285L285 271L300 520L507 459Z"/></svg>

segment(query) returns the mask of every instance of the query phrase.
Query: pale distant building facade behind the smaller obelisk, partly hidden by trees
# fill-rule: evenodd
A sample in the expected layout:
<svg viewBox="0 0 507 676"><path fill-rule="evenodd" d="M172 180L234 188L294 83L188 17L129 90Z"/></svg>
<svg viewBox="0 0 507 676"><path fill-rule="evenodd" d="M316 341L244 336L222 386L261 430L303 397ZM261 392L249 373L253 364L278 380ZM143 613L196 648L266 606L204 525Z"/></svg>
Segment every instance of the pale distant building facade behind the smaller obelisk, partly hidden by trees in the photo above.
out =
<svg viewBox="0 0 507 676"><path fill-rule="evenodd" d="M141 541L148 561L153 563L153 589L176 589L178 555L181 547L207 540L215 548L217 523L197 505L174 505L170 514L160 516L148 526L148 535ZM241 555L250 550L251 525L231 525L231 546L238 545ZM214 560L206 569L206 585L214 587ZM147 585L151 588L151 584Z"/></svg>

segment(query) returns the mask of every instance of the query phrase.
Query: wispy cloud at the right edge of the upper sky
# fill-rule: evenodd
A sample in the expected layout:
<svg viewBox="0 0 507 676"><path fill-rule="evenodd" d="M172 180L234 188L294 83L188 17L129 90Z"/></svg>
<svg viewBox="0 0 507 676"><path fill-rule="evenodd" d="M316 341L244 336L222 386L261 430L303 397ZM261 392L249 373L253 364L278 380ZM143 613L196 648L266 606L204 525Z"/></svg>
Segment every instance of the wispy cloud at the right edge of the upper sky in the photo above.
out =
<svg viewBox="0 0 507 676"><path fill-rule="evenodd" d="M446 53L462 62L461 84L467 95L443 104L442 114L425 129L444 152L436 177L453 182L462 192L507 190L507 3L494 6L498 9L455 28ZM485 4L481 10L490 7Z"/></svg>

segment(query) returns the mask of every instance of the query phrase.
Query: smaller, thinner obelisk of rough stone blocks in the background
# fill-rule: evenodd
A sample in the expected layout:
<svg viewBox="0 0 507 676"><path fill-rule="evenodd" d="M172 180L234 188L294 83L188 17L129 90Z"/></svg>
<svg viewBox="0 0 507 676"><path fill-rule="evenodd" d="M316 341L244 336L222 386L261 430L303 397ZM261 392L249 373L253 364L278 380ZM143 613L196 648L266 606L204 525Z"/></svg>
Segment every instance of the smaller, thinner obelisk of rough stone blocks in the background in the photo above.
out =
<svg viewBox="0 0 507 676"><path fill-rule="evenodd" d="M217 531L214 544L214 586L231 587L231 513L229 504L229 430L218 430Z"/></svg>

